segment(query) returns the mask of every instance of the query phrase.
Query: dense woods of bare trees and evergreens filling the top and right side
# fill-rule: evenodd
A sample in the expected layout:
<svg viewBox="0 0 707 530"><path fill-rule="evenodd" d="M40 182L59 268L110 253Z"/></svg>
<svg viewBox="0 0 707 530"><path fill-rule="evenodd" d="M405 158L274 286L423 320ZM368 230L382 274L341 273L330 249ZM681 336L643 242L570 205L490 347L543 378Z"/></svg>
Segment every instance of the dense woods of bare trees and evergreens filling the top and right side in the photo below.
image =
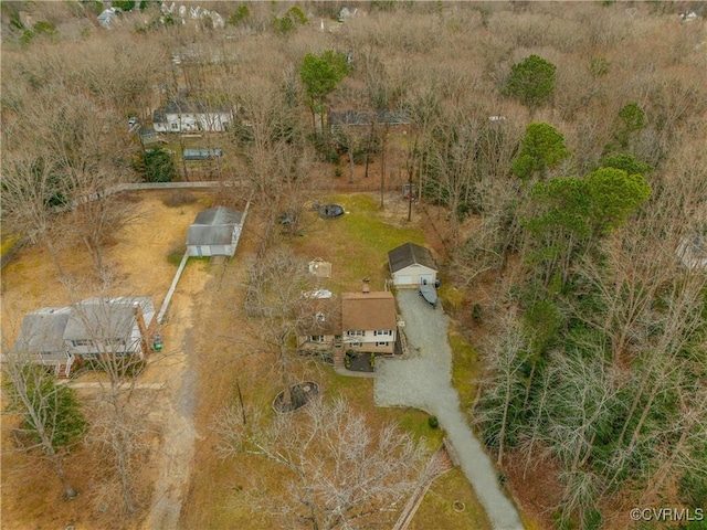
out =
<svg viewBox="0 0 707 530"><path fill-rule="evenodd" d="M464 405L499 473L552 469L541 508L562 529L707 506L707 269L678 255L707 242L705 13L679 15L699 6L371 1L340 23L342 2L201 2L221 28L138 2L107 30L98 3L2 2L3 234L45 245L59 277L55 248L80 241L109 277L103 245L133 213L104 192L189 178L128 127L176 98L233 113L202 131L228 155L210 177L273 220L356 168L383 206L404 174L444 212L483 358ZM361 127L329 126L349 110Z"/></svg>

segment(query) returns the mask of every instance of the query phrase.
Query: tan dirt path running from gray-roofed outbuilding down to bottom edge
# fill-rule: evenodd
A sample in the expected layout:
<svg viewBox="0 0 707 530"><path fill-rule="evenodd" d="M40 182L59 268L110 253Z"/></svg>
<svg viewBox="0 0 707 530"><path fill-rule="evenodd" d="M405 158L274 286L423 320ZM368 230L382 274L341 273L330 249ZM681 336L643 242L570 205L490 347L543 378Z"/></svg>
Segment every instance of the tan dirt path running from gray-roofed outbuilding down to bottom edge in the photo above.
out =
<svg viewBox="0 0 707 530"><path fill-rule="evenodd" d="M203 287L209 278L202 262L191 263L184 269L172 306L162 327L165 344L173 350L150 364L149 371L167 381L160 423L165 426L158 455L159 477L155 485L151 509L146 529L171 530L178 528L186 488L189 485L190 464L197 431L193 409L196 396L196 367L192 352L196 307L208 296ZM201 299L196 303L194 300Z"/></svg>

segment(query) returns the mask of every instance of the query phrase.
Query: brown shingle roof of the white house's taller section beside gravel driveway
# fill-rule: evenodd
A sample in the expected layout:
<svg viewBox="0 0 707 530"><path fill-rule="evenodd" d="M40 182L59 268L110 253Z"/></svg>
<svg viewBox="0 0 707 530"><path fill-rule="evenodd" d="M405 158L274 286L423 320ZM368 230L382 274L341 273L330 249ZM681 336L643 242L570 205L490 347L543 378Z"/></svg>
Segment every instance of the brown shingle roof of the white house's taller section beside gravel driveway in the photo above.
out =
<svg viewBox="0 0 707 530"><path fill-rule="evenodd" d="M395 329L395 299L392 293L344 293L341 327L344 331Z"/></svg>

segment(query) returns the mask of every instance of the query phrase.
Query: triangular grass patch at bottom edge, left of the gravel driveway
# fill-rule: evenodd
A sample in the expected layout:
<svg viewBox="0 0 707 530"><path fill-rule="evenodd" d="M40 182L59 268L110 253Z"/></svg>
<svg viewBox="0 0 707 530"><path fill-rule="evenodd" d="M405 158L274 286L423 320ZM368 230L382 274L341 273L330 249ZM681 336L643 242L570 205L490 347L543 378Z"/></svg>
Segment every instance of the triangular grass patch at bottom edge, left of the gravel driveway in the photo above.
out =
<svg viewBox="0 0 707 530"><path fill-rule="evenodd" d="M454 509L454 502L456 511ZM476 499L474 488L457 467L439 477L424 496L409 530L490 530L486 511Z"/></svg>

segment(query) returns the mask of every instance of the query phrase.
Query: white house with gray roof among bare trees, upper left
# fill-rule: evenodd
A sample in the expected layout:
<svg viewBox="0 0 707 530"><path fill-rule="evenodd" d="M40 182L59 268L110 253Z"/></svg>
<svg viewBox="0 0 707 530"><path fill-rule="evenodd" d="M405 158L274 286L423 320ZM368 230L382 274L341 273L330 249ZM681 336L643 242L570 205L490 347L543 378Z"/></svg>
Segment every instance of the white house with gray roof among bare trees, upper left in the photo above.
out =
<svg viewBox="0 0 707 530"><path fill-rule="evenodd" d="M222 132L232 123L230 108L187 99L171 100L152 113L152 128L158 132Z"/></svg>

